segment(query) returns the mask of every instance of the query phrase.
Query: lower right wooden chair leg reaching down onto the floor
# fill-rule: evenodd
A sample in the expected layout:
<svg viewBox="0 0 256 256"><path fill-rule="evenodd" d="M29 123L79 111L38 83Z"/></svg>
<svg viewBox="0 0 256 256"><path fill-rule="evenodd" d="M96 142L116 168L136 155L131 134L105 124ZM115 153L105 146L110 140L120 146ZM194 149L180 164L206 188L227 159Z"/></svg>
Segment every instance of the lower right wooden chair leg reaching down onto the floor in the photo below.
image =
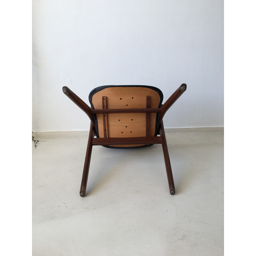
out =
<svg viewBox="0 0 256 256"><path fill-rule="evenodd" d="M173 176L172 176L172 167L171 167L170 157L169 157L169 153L168 153L166 137L165 137L165 133L164 133L163 121L160 123L159 134L163 140L162 147L163 147L163 152L164 152L164 162L165 162L165 168L166 168L166 173L167 173L170 194L174 195L175 187L174 187L174 181L173 181Z"/></svg>

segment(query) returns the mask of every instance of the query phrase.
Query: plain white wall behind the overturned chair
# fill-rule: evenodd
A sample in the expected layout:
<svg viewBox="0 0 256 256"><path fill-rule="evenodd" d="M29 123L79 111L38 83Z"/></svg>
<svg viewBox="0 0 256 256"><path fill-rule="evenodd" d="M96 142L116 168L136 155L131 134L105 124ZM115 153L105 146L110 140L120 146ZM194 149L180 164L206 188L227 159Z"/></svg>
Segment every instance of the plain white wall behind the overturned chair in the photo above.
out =
<svg viewBox="0 0 256 256"><path fill-rule="evenodd" d="M64 85L89 105L101 85L156 86L165 102L186 83L165 128L224 126L223 16L223 0L33 1L33 131L89 130Z"/></svg>

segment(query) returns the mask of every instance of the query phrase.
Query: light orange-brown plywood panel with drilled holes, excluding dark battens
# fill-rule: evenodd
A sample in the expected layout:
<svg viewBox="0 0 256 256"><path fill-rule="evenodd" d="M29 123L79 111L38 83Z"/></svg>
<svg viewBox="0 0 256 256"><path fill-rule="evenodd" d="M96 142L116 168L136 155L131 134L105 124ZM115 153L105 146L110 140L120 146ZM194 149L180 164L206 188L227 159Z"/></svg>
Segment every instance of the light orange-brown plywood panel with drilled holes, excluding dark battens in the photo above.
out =
<svg viewBox="0 0 256 256"><path fill-rule="evenodd" d="M111 108L146 108L150 97L151 108L158 108L160 96L158 92L144 87L108 87L92 96L94 109L102 109L102 96L107 97L108 109ZM127 138L146 136L145 113L121 113L107 115L108 137ZM100 138L104 138L103 116L97 114ZM156 113L150 116L150 136L154 136ZM113 147L135 147L140 145L113 145Z"/></svg>

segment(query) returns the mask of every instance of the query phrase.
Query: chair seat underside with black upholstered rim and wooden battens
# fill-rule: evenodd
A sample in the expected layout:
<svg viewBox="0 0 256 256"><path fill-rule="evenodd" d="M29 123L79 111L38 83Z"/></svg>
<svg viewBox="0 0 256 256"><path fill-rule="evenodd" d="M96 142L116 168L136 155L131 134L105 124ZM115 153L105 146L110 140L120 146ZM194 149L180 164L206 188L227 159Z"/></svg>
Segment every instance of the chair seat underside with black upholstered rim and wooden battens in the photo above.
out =
<svg viewBox="0 0 256 256"><path fill-rule="evenodd" d="M89 95L92 109L160 108L162 92L151 86L101 86ZM157 135L157 113L108 113L96 114L95 126L98 138L129 138ZM151 144L152 145L152 144ZM151 145L111 145L108 148L140 148Z"/></svg>

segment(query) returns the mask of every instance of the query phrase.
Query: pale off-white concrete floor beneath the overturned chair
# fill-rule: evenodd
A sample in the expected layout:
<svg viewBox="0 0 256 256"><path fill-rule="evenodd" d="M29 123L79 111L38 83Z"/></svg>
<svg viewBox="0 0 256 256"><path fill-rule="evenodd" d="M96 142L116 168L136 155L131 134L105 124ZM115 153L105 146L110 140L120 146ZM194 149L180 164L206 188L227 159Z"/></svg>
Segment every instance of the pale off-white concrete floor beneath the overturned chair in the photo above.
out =
<svg viewBox="0 0 256 256"><path fill-rule="evenodd" d="M223 132L167 133L161 145L94 146L79 196L88 132L33 133L33 256L223 255Z"/></svg>

